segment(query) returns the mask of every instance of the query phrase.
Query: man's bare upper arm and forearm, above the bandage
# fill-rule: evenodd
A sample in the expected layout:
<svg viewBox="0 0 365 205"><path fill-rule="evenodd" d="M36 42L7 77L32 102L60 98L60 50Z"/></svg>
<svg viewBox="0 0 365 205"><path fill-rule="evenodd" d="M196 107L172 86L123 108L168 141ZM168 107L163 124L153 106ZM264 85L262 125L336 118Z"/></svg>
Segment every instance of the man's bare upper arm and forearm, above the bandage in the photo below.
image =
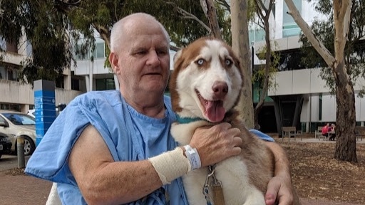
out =
<svg viewBox="0 0 365 205"><path fill-rule="evenodd" d="M163 185L148 160L114 162L103 138L91 125L73 146L68 165L88 204L125 204Z"/></svg>

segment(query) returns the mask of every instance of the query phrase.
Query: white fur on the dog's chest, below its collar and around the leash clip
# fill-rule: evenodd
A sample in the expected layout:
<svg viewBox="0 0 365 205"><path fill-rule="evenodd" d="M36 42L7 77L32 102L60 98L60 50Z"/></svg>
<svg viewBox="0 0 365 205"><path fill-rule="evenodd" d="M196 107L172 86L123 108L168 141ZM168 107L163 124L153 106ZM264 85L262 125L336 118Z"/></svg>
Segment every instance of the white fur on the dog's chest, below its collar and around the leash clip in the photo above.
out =
<svg viewBox="0 0 365 205"><path fill-rule="evenodd" d="M188 124L174 123L171 134L181 145L188 144L196 127L207 125L205 121ZM264 203L264 196L255 186L250 184L247 166L240 157L230 157L215 165L215 177L222 182L225 205L250 204L259 205ZM207 204L203 194L203 187L207 179L207 167L193 170L183 176L183 183L187 199L191 205ZM212 180L210 181L212 182ZM209 184L210 199L213 199L213 190Z"/></svg>

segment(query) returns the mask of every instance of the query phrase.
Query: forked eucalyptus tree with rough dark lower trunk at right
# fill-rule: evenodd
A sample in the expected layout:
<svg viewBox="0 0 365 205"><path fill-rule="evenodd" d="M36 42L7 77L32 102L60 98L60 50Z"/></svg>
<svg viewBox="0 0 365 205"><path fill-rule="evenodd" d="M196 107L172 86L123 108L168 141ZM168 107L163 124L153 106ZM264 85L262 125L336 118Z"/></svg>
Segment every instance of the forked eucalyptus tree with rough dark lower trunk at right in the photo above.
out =
<svg viewBox="0 0 365 205"><path fill-rule="evenodd" d="M354 84L351 81L351 68L353 65L350 61L351 56L356 56L357 59L362 57L355 53L349 52L351 48L351 39L356 32L360 32L364 28L364 19L359 21L360 16L364 12L357 13L356 7L362 5L361 0L320 0L319 5L322 6L322 11L332 15L331 23L324 23L324 27L333 31L334 36L329 48L323 43L326 39L321 39L319 36L322 32L314 33L314 29L310 28L302 19L299 12L295 8L292 0L285 0L289 8L288 14L292 15L294 21L302 29L304 35L311 43L313 48L322 57L325 65L329 67L331 78L334 79L334 89L336 94L336 150L334 158L342 161L357 162L356 157L356 137L355 137L355 95ZM359 25L359 30L356 28L356 23ZM316 24L314 23L314 26ZM319 31L319 30L317 30ZM328 30L327 30L328 31ZM329 38L328 38L329 39ZM333 50L331 50L333 48ZM332 52L331 52L332 51Z"/></svg>

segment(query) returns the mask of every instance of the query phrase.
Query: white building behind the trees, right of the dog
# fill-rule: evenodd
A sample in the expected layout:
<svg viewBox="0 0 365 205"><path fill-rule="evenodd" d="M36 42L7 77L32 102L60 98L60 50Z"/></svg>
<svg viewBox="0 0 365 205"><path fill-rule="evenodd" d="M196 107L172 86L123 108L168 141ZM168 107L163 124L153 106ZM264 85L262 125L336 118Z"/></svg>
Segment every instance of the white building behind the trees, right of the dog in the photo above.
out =
<svg viewBox="0 0 365 205"><path fill-rule="evenodd" d="M312 25L314 19L328 18L314 10L314 1L293 0L304 21ZM271 41L276 41L276 51L299 51L300 28L287 14L288 8L284 0L276 0L274 11L270 17ZM331 16L329 18L332 18ZM252 25L250 41L255 46L255 51L264 46L264 31ZM329 88L319 76L320 68L285 68L285 63L274 76L276 88L270 88L268 95L273 102L267 103L270 110L264 110L261 121L265 125L276 124L277 131L282 126L295 126L304 132L314 132L317 126L323 126L325 122L336 122L336 97L329 93ZM280 70L282 69L282 70ZM354 84L356 93L356 124L363 125L365 121L365 99L359 98L357 93L365 85L364 79L359 79ZM255 99L255 98L254 98ZM266 113L265 113L266 112ZM274 112L274 121L272 121ZM271 116L271 117L270 117ZM267 117L270 120L264 119ZM265 127L261 125L261 127ZM272 131L273 127L266 127ZM265 129L265 128L264 128ZM271 129L271 130L270 130Z"/></svg>

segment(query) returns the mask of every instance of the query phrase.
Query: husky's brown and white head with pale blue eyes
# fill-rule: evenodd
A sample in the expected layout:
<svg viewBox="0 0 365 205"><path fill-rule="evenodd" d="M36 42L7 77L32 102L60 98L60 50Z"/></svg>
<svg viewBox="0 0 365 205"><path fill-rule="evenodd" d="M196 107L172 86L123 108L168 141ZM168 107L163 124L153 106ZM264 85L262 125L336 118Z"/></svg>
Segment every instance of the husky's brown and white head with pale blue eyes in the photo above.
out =
<svg viewBox="0 0 365 205"><path fill-rule="evenodd" d="M240 61L223 41L199 38L175 54L170 93L180 117L220 122L237 104L241 88Z"/></svg>

